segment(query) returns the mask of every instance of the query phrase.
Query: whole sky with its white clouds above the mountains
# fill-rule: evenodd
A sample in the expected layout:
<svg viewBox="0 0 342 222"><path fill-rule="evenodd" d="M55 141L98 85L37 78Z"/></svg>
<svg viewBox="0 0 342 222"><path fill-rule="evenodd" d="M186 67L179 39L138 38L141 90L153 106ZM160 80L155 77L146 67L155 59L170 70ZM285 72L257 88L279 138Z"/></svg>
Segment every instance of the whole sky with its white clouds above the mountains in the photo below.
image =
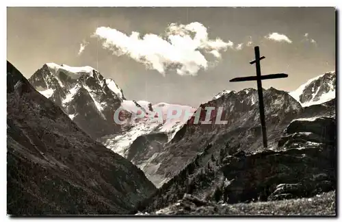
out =
<svg viewBox="0 0 342 222"><path fill-rule="evenodd" d="M335 70L334 8L8 8L7 59L30 77L47 62L92 66L124 97L198 107L229 82L287 73L263 88L291 91Z"/></svg>

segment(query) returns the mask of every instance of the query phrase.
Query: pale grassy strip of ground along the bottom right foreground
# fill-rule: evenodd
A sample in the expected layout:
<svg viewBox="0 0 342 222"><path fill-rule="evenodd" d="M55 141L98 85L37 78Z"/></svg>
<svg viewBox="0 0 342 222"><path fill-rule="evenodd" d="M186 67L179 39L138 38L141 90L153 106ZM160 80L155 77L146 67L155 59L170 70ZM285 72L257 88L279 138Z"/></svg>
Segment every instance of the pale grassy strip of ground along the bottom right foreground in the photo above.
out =
<svg viewBox="0 0 342 222"><path fill-rule="evenodd" d="M184 195L175 204L150 214L196 216L336 216L336 193L322 193L310 198L267 201L250 204L218 204L202 201L192 195ZM137 215L149 215L139 212Z"/></svg>

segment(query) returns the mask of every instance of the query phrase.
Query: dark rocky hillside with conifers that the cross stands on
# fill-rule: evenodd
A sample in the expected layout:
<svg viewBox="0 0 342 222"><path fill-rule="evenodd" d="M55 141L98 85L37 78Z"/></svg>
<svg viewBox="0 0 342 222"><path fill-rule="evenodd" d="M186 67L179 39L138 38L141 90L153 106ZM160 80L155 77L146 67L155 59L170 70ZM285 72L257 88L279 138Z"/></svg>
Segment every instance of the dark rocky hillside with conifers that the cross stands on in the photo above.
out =
<svg viewBox="0 0 342 222"><path fill-rule="evenodd" d="M155 212L185 193L228 204L313 197L337 188L336 123L319 117L295 119L276 149L248 153L227 143L219 156L205 150L163 184L137 210Z"/></svg>

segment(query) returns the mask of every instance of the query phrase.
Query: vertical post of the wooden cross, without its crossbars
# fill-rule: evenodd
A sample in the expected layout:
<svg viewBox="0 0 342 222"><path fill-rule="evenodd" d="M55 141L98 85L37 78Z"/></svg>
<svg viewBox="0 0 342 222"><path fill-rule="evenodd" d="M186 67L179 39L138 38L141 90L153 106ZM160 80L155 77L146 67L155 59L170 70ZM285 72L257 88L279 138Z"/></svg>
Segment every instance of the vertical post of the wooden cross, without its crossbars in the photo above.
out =
<svg viewBox="0 0 342 222"><path fill-rule="evenodd" d="M263 131L263 147L267 148L267 132L265 122L265 108L263 106L263 87L261 84L261 69L260 69L260 51L259 47L254 47L255 53L255 69L257 70L257 86L258 86L258 97L259 97L259 109L260 109L260 121Z"/></svg>

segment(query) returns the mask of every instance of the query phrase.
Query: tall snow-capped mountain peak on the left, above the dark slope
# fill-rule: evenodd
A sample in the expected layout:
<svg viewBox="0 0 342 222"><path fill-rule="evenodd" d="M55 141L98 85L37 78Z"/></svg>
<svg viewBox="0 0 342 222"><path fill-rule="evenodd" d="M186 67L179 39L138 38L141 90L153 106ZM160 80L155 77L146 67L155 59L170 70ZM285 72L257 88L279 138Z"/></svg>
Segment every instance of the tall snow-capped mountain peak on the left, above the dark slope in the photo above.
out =
<svg viewBox="0 0 342 222"><path fill-rule="evenodd" d="M47 63L29 82L92 138L121 132L113 114L124 99L122 90L114 80L105 79L92 67Z"/></svg>

